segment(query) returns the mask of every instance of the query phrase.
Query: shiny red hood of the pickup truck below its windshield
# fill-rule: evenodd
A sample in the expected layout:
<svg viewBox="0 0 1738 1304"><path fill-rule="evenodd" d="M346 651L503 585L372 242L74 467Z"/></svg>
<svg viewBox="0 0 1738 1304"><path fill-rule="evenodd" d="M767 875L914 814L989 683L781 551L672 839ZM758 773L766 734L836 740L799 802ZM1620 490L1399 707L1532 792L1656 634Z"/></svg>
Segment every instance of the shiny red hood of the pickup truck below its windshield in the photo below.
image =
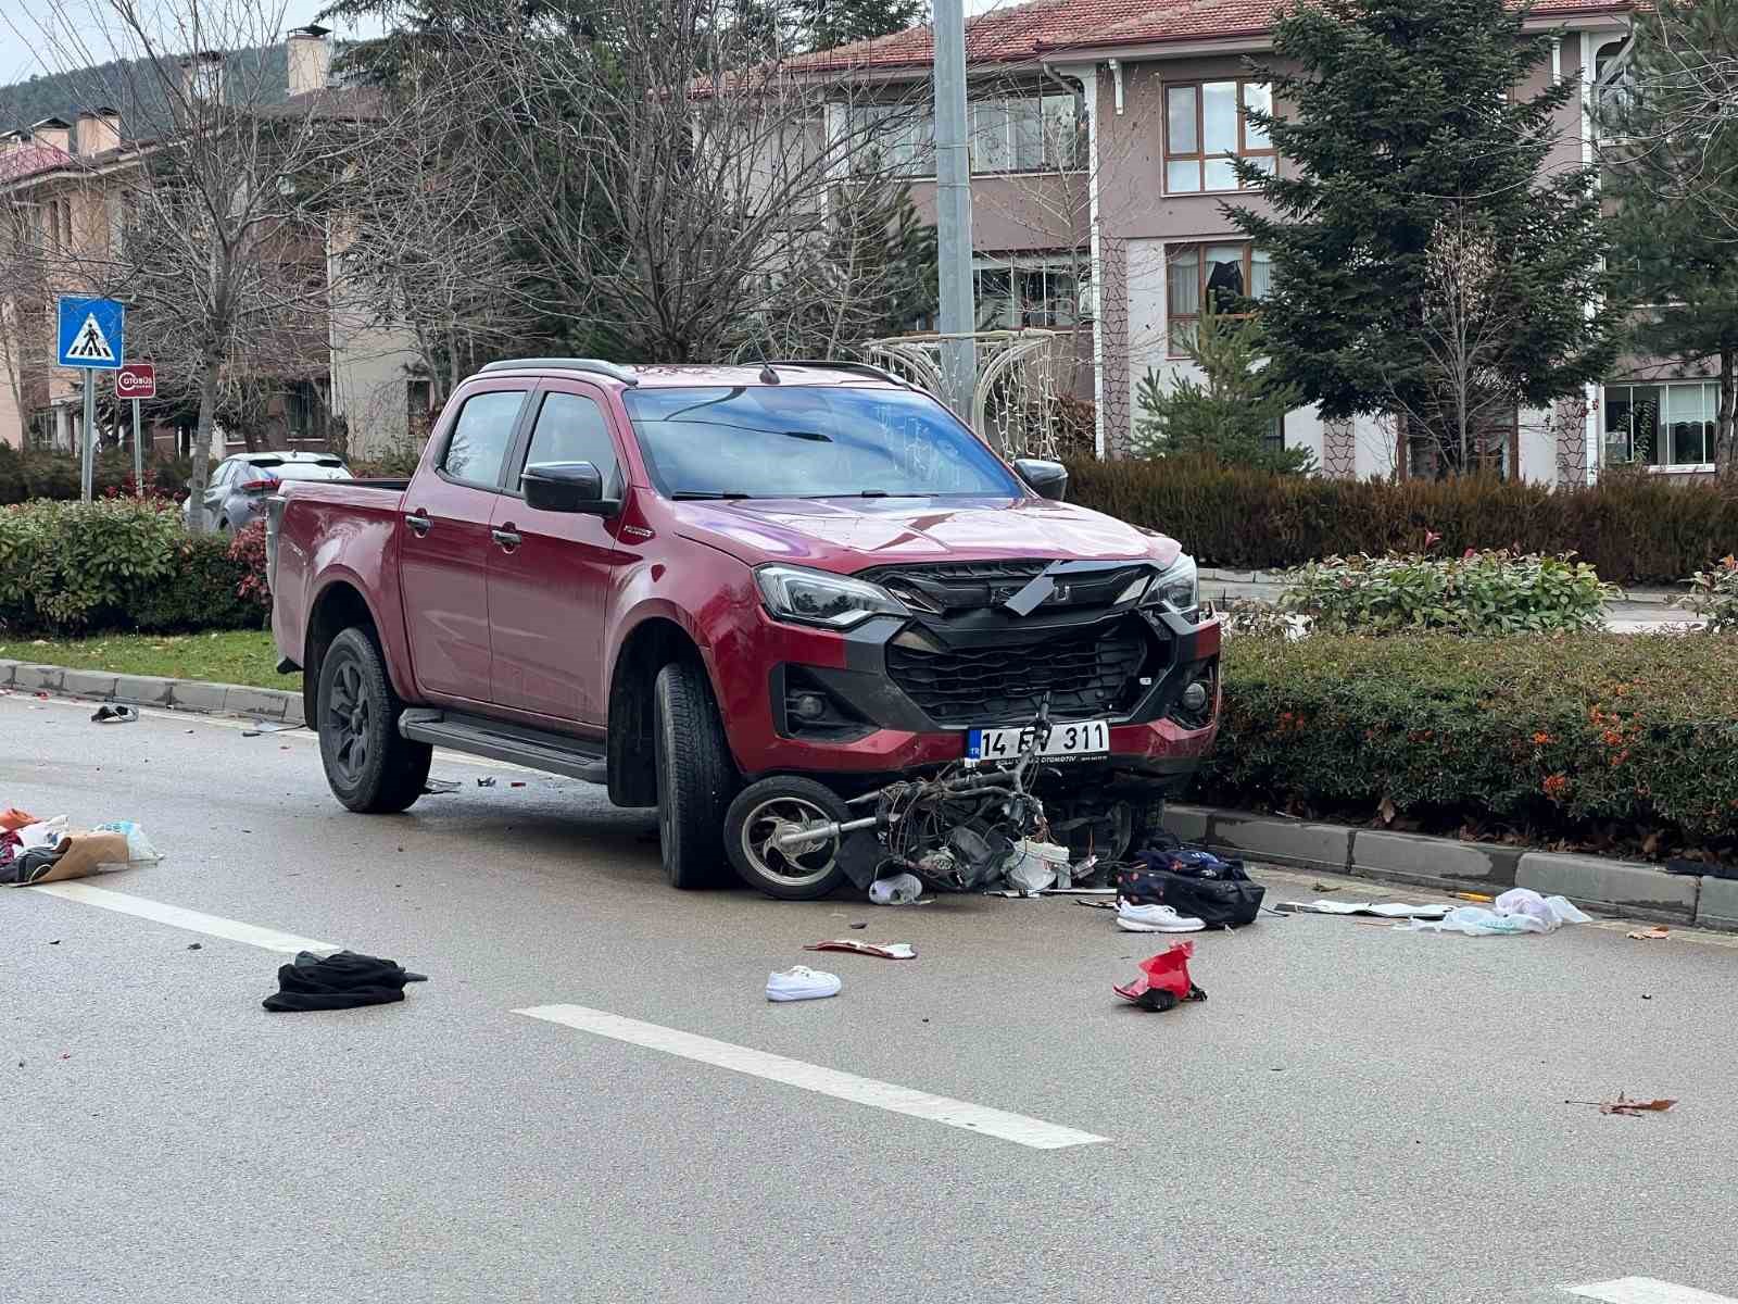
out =
<svg viewBox="0 0 1738 1304"><path fill-rule="evenodd" d="M681 536L749 565L789 562L838 574L994 558L1149 558L1168 567L1182 551L1156 530L1038 497L744 499L669 509Z"/></svg>

